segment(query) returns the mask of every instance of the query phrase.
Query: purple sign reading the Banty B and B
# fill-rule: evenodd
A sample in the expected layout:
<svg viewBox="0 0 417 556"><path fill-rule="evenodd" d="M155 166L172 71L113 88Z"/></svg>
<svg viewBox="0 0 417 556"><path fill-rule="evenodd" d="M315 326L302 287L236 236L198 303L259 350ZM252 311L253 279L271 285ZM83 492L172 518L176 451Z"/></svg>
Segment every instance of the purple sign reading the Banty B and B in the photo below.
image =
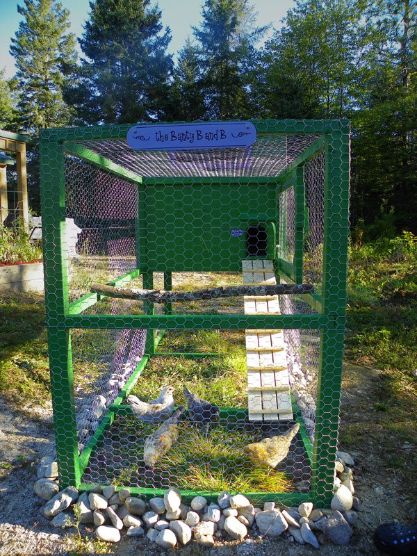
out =
<svg viewBox="0 0 417 556"><path fill-rule="evenodd" d="M127 144L145 151L250 147L256 140L251 122L137 125L127 132Z"/></svg>

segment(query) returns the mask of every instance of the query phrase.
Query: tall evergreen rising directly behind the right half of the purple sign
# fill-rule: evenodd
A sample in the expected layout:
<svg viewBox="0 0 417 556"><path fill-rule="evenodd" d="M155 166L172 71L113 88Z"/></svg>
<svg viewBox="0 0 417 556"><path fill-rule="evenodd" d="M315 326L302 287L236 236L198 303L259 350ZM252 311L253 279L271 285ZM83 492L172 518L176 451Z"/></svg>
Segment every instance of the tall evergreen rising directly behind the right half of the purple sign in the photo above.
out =
<svg viewBox="0 0 417 556"><path fill-rule="evenodd" d="M247 65L253 45L268 27L255 26L248 0L205 0L202 17L200 28L193 31L199 42L206 117L247 117Z"/></svg>

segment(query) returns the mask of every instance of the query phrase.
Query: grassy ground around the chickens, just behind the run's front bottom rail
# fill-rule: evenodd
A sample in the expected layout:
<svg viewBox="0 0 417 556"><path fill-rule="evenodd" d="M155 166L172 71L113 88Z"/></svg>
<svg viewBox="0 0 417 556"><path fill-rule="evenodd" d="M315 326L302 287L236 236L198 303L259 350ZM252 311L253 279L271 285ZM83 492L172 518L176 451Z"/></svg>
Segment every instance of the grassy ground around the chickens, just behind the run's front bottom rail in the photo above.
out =
<svg viewBox="0 0 417 556"><path fill-rule="evenodd" d="M143 445L158 425L141 423L132 415L115 414L90 455L84 484L131 486L149 493L177 486L184 491L212 493L293 492L305 488L311 475L300 434L288 456L277 468L254 467L243 452L245 445L286 432L293 423L250 422L243 410L223 409L208 434L192 425L185 415L179 438L154 468L145 466Z"/></svg>

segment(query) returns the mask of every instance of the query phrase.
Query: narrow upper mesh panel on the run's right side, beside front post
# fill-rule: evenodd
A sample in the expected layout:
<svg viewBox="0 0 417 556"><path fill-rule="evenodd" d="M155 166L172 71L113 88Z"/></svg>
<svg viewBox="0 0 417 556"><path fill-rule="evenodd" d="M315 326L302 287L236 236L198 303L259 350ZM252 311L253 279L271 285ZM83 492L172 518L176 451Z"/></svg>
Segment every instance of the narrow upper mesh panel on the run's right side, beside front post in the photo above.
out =
<svg viewBox="0 0 417 556"><path fill-rule="evenodd" d="M316 284L320 291L323 267L323 232L325 217L325 154L304 165L308 231L304 231L304 281Z"/></svg>

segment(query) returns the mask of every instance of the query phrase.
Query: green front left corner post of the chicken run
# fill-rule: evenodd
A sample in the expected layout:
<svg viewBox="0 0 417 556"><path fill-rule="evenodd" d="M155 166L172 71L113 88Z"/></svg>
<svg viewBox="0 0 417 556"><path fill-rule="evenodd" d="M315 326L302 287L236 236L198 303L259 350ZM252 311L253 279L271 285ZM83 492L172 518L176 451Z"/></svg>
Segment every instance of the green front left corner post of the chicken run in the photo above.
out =
<svg viewBox="0 0 417 556"><path fill-rule="evenodd" d="M65 168L63 144L54 131L40 131L42 244L49 368L60 488L79 484L65 237Z"/></svg>

